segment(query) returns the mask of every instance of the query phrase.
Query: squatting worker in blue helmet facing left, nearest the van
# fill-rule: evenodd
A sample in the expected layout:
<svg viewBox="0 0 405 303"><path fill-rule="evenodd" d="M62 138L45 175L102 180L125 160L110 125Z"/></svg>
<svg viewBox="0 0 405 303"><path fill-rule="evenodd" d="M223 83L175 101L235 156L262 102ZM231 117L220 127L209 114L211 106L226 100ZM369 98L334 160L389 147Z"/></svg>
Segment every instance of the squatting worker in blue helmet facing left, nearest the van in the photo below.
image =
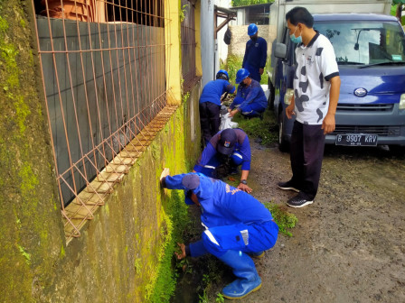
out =
<svg viewBox="0 0 405 303"><path fill-rule="evenodd" d="M239 87L228 109L230 117L238 112L248 118L262 117L262 113L268 106L268 99L259 82L250 78L248 69L239 69L236 73L235 82L239 84Z"/></svg>

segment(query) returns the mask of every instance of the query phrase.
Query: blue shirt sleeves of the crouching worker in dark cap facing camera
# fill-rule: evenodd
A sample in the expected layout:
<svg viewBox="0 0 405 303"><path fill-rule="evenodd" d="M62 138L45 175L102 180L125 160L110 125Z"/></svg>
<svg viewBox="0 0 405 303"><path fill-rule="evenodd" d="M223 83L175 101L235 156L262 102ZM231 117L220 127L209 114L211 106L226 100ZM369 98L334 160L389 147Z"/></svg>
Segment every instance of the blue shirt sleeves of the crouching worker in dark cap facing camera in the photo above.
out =
<svg viewBox="0 0 405 303"><path fill-rule="evenodd" d="M216 133L207 143L207 146L204 148L203 153L200 159L197 161L197 164L194 166L194 170L201 172L203 167L208 164L208 162L217 154L217 145L220 141L220 133ZM242 156L242 165L241 170L250 170L250 142L248 135L243 132L240 128L235 128L235 133L237 137L237 142L233 147L233 151L238 150Z"/></svg>

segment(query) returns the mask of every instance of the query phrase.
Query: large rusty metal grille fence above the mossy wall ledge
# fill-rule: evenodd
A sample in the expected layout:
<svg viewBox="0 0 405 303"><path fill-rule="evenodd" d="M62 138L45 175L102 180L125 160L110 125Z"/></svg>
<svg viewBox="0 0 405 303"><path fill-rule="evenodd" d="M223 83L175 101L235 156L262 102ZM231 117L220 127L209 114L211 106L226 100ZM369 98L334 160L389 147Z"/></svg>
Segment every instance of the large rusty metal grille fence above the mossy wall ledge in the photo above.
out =
<svg viewBox="0 0 405 303"><path fill-rule="evenodd" d="M77 226L65 207L92 217L119 181L103 173L134 162L166 105L163 0L32 1L61 210Z"/></svg>

